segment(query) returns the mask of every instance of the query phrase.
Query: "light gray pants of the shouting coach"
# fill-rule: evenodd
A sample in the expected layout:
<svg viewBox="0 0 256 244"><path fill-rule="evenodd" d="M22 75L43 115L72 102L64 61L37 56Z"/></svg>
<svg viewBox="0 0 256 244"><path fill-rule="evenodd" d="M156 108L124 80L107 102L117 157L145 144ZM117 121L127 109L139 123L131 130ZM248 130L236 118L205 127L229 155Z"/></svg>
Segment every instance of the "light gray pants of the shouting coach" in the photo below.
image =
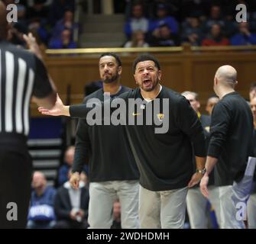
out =
<svg viewBox="0 0 256 244"><path fill-rule="evenodd" d="M141 229L183 229L187 188L149 191L140 186Z"/></svg>

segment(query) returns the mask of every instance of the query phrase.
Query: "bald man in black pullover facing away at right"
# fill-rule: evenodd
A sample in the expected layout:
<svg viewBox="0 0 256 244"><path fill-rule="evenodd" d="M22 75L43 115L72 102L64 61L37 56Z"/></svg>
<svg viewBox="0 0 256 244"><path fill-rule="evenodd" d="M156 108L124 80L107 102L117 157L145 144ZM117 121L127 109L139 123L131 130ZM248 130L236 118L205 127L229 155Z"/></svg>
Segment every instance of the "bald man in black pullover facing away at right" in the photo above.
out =
<svg viewBox="0 0 256 244"><path fill-rule="evenodd" d="M237 72L232 66L221 66L215 73L213 88L220 101L212 111L206 174L200 183L202 193L209 197L209 174L215 166L220 225L225 229L245 228L243 220L252 183L251 172L246 169L252 154L253 117L245 99L235 92L236 79Z"/></svg>

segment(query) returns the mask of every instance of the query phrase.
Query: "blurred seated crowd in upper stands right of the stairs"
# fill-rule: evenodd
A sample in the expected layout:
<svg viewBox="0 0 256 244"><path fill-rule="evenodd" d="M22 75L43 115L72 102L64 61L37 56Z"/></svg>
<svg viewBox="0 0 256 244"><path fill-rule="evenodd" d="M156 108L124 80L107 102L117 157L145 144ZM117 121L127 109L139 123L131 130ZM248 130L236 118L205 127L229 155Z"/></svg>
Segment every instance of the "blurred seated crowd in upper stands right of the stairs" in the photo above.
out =
<svg viewBox="0 0 256 244"><path fill-rule="evenodd" d="M247 6L238 23L235 6ZM254 45L255 3L249 1L137 1L125 24L125 47Z"/></svg>

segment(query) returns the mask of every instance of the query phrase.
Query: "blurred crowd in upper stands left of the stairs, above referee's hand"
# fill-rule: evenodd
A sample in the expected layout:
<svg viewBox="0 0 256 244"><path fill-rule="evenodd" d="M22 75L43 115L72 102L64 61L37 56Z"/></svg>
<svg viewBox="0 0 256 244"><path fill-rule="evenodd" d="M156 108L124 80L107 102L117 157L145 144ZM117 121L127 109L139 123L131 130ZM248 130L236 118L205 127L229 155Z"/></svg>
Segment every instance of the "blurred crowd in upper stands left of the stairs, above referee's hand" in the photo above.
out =
<svg viewBox="0 0 256 244"><path fill-rule="evenodd" d="M15 4L5 0L6 5ZM31 32L44 47L76 48L73 40L78 24L74 23L75 1L73 0L21 0L17 4L18 22L12 23L11 41L24 46L22 34Z"/></svg>

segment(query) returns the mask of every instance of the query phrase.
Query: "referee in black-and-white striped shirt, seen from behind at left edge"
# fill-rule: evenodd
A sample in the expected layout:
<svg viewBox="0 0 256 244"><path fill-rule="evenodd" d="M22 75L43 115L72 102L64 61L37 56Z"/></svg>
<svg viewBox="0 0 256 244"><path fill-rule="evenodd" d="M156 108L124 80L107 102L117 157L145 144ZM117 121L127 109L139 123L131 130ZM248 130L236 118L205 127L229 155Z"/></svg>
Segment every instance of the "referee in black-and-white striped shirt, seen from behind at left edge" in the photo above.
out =
<svg viewBox="0 0 256 244"><path fill-rule="evenodd" d="M34 54L6 41L8 23L0 1L0 228L25 228L31 196L31 157L28 154L29 105L51 108L56 92L44 64ZM34 37L25 36L31 50Z"/></svg>

